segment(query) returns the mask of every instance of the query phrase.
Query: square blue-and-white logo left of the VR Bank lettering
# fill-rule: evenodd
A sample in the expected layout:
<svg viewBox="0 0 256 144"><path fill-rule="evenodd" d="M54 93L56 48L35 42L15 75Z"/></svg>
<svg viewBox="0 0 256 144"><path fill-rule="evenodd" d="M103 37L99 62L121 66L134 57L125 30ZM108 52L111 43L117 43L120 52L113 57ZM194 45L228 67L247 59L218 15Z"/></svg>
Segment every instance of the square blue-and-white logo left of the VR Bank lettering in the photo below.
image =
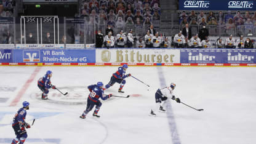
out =
<svg viewBox="0 0 256 144"><path fill-rule="evenodd" d="M23 50L23 62L40 62L40 51Z"/></svg>

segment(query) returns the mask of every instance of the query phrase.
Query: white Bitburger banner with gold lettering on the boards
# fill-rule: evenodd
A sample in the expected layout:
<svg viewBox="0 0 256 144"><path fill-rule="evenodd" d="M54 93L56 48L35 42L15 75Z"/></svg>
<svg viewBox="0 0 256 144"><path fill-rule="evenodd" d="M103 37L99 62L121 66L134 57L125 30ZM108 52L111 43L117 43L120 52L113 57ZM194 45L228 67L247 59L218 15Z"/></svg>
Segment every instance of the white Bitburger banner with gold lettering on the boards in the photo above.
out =
<svg viewBox="0 0 256 144"><path fill-rule="evenodd" d="M97 63L180 63L178 49L97 49Z"/></svg>

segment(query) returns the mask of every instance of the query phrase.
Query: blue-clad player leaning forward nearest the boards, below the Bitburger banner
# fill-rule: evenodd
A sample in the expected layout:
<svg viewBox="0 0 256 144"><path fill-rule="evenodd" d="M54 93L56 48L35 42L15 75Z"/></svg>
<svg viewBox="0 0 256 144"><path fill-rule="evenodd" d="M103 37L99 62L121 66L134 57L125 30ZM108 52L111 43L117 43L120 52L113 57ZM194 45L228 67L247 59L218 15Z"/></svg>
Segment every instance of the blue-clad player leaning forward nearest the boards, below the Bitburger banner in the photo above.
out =
<svg viewBox="0 0 256 144"><path fill-rule="evenodd" d="M118 71L116 71L116 73L113 73L113 75L110 78L110 82L106 84L104 90L110 88L114 85L114 83L118 82L120 84L118 92L124 93L124 91L122 91L122 87L124 87L124 84L126 84L125 78L132 76L132 74L126 74L127 68L128 66L126 64L120 66L118 68Z"/></svg>

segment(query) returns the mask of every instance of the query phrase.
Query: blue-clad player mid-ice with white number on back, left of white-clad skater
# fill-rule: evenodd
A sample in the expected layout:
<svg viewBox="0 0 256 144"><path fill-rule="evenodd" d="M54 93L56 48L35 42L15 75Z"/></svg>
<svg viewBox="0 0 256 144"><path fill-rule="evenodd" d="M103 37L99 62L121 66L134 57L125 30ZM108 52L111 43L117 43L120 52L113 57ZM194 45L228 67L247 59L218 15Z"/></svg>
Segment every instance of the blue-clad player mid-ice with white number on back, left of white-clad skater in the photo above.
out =
<svg viewBox="0 0 256 144"><path fill-rule="evenodd" d="M91 111L92 108L94 108L94 105L96 106L95 106L94 114L92 114L92 116L100 118L100 116L98 115L98 110L100 110L100 106L102 106L102 102L100 102L99 98L102 98L102 100L106 100L112 97L112 94L104 95L102 82L97 82L97 84L90 85L88 86L88 89L90 91L90 94L87 98L86 110L84 110L84 113L82 113L80 118L85 119L89 111Z"/></svg>

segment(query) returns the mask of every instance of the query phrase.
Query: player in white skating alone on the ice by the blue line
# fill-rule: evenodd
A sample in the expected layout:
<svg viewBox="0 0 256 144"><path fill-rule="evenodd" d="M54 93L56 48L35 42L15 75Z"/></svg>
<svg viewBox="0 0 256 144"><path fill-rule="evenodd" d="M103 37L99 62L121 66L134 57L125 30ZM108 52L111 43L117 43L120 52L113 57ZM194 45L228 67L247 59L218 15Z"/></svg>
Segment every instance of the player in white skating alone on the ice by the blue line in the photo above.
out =
<svg viewBox="0 0 256 144"><path fill-rule="evenodd" d="M156 93L154 97L156 98L156 105L153 109L150 111L150 116L156 116L156 111L166 111L164 110L164 107L166 106L166 100L172 98L172 100L175 100L177 103L180 103L180 98L175 98L175 96L172 94L174 89L176 87L176 84L170 83L170 86L163 87L162 89L156 90ZM162 103L163 102L163 103ZM162 105L161 105L162 103Z"/></svg>

